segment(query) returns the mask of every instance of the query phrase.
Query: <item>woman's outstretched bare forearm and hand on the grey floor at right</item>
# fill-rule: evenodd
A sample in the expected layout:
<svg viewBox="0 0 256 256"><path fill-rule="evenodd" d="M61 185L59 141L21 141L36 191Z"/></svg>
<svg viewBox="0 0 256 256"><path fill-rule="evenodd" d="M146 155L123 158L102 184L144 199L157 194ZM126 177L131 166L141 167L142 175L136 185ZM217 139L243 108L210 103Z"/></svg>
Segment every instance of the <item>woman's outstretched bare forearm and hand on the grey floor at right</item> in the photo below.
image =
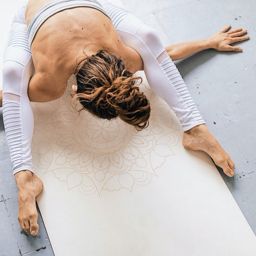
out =
<svg viewBox="0 0 256 256"><path fill-rule="evenodd" d="M173 61L186 58L206 49L214 49L217 51L243 51L241 47L232 46L231 44L249 39L249 36L242 36L247 33L247 30L238 28L228 31L230 28L231 25L228 25L208 38L169 45L165 47L165 50Z"/></svg>

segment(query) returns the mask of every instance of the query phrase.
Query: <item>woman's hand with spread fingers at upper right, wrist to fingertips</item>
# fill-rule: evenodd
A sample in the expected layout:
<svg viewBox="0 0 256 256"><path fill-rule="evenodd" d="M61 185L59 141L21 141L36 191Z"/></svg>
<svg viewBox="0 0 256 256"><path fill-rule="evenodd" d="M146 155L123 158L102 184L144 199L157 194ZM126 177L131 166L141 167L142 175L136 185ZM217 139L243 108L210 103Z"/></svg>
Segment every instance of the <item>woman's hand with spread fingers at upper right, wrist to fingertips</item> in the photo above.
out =
<svg viewBox="0 0 256 256"><path fill-rule="evenodd" d="M217 51L236 51L242 52L243 49L239 46L231 46L230 44L241 42L246 39L249 39L249 36L242 36L247 33L247 30L242 28L237 28L234 30L227 31L231 28L231 25L228 25L226 28L223 28L218 33L209 37L210 47Z"/></svg>

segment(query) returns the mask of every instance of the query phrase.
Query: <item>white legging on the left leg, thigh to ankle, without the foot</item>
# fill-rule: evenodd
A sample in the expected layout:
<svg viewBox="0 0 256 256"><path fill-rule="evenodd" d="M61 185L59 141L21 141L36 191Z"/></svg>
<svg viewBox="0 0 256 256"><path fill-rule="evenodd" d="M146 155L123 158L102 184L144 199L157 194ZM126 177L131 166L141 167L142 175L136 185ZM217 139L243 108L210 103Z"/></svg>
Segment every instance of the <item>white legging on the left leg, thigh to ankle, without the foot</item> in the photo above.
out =
<svg viewBox="0 0 256 256"><path fill-rule="evenodd" d="M21 170L33 172L30 148L34 116L27 90L34 66L22 11L25 8L18 11L12 23L3 63L3 119L13 174Z"/></svg>

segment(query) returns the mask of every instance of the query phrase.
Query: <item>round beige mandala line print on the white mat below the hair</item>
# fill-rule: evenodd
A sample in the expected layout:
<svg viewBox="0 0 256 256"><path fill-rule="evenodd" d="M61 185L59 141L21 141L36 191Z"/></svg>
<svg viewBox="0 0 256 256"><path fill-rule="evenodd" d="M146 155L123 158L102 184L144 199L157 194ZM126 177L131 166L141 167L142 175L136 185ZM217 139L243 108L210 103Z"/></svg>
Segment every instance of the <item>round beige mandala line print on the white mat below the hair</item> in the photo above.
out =
<svg viewBox="0 0 256 256"><path fill-rule="evenodd" d="M147 84L141 90L151 115L149 127L140 132L120 119L98 119L87 111L78 115L68 91L58 100L33 103L35 169L52 172L68 189L85 195L147 185L166 157L174 155L179 137L171 127L170 107Z"/></svg>

